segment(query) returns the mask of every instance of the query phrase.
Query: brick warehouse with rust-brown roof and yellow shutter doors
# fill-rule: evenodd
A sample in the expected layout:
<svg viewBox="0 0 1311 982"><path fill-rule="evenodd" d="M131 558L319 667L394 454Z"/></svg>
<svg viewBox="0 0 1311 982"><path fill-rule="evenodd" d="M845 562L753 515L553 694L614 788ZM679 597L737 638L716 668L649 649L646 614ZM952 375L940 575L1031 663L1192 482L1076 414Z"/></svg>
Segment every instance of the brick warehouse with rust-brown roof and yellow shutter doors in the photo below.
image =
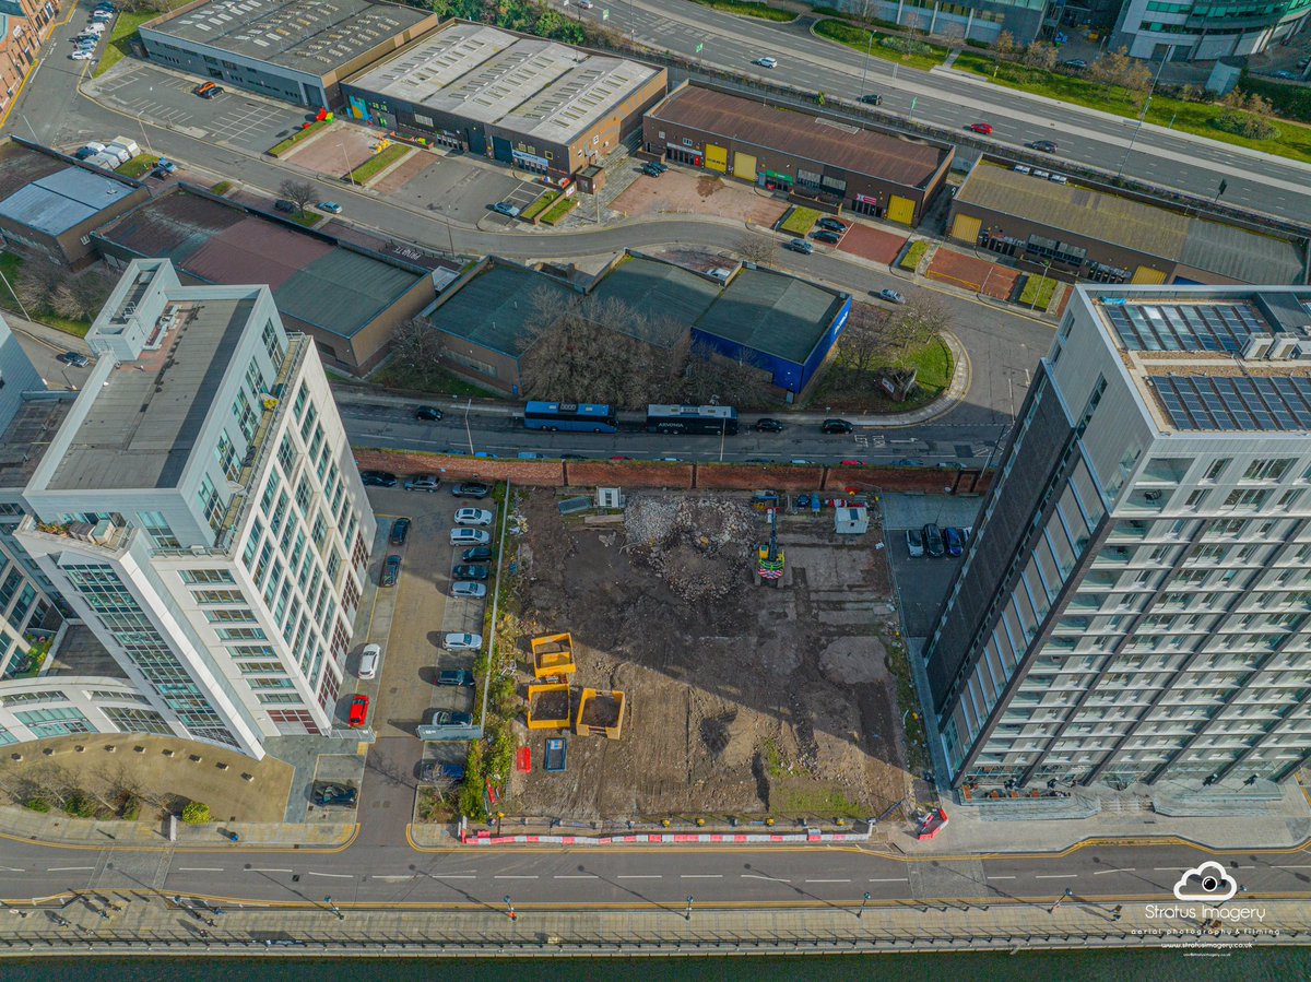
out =
<svg viewBox="0 0 1311 982"><path fill-rule="evenodd" d="M915 226L943 189L953 148L684 84L642 123L669 160L819 205Z"/></svg>

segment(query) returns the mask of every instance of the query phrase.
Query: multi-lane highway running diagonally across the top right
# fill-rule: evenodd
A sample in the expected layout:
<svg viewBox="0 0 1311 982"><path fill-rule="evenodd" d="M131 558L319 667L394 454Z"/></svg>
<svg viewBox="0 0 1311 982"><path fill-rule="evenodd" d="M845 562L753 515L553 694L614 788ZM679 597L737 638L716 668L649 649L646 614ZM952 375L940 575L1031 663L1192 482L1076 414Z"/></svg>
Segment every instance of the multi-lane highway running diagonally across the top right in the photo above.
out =
<svg viewBox="0 0 1311 982"><path fill-rule="evenodd" d="M565 9L560 0L552 0L552 5ZM652 47L700 58L705 64L830 96L856 98L877 92L889 113L948 130L991 123L992 139L1002 151L1054 140L1059 147L1054 167L1067 159L1110 170L1122 168L1127 174L1207 198L1226 180L1224 201L1230 205L1299 222L1311 215L1311 167L1306 164L1156 126L1139 130L1137 119L1108 119L1080 106L1057 106L950 71L924 72L878 58L867 60L850 47L812 35L804 25L734 17L684 0L606 0L582 16L599 18L600 8L610 12L607 26ZM700 54L697 45L704 46ZM779 67L751 64L764 55L776 58Z"/></svg>

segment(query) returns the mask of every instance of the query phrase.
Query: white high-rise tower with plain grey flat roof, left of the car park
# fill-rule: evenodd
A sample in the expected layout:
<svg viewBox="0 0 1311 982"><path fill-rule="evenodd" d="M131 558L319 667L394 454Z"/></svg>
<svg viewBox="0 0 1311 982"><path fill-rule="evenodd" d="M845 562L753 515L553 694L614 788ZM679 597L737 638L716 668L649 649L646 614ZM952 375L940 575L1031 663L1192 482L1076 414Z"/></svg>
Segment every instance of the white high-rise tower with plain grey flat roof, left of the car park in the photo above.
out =
<svg viewBox="0 0 1311 982"><path fill-rule="evenodd" d="M130 264L87 340L18 541L144 729L252 756L328 733L375 523L313 344L267 287L181 286L166 260Z"/></svg>

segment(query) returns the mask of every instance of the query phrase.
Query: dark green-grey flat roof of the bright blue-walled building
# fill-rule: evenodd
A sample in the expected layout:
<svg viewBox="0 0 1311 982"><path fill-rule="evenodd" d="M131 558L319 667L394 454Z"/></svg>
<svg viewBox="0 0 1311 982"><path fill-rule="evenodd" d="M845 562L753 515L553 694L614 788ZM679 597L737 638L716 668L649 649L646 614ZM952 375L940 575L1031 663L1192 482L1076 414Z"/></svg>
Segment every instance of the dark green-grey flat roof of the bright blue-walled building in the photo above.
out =
<svg viewBox="0 0 1311 982"><path fill-rule="evenodd" d="M832 291L785 273L743 269L692 326L802 364L843 303Z"/></svg>

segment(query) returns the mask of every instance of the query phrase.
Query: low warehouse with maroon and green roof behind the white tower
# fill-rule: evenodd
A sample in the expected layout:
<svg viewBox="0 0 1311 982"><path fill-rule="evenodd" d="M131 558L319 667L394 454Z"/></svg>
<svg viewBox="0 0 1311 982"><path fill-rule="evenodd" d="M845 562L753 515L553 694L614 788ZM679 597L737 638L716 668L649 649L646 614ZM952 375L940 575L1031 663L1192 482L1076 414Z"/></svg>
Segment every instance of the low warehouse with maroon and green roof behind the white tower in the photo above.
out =
<svg viewBox="0 0 1311 982"><path fill-rule="evenodd" d="M396 326L437 295L433 273L362 245L182 186L93 236L105 261L166 258L184 283L266 283L283 324L323 361L364 374Z"/></svg>

